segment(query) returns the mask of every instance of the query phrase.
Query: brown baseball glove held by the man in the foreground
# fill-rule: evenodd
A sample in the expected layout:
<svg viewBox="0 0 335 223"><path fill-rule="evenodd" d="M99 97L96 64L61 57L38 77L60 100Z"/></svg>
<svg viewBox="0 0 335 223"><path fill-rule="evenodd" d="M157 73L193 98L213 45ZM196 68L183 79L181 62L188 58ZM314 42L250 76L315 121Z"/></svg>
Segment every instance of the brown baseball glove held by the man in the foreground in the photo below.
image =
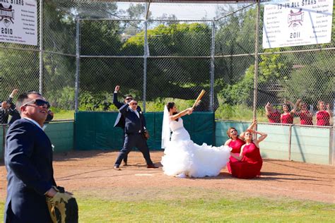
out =
<svg viewBox="0 0 335 223"><path fill-rule="evenodd" d="M78 204L76 198L66 193L61 186L53 198L47 197L47 206L53 223L78 223Z"/></svg>

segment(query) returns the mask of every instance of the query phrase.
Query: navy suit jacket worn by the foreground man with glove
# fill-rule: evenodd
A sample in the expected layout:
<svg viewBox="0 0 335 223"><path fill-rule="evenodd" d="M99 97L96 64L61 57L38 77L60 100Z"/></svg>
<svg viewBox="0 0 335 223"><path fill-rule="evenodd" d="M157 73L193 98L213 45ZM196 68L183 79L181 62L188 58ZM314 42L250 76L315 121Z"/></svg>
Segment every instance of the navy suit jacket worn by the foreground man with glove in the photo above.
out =
<svg viewBox="0 0 335 223"><path fill-rule="evenodd" d="M10 210L19 222L51 222L44 194L56 183L52 144L45 132L28 119L14 122L6 135L5 164L5 222Z"/></svg>

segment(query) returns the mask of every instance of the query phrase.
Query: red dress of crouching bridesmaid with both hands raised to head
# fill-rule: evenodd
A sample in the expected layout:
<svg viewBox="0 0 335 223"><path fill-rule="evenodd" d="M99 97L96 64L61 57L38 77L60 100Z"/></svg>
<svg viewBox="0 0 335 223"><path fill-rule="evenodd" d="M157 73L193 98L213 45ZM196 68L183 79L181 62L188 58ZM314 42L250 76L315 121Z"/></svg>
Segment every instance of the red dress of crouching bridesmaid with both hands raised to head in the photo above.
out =
<svg viewBox="0 0 335 223"><path fill-rule="evenodd" d="M261 175L263 159L259 147L250 143L243 148L243 158L240 161L230 163L232 176L242 179L252 179Z"/></svg>

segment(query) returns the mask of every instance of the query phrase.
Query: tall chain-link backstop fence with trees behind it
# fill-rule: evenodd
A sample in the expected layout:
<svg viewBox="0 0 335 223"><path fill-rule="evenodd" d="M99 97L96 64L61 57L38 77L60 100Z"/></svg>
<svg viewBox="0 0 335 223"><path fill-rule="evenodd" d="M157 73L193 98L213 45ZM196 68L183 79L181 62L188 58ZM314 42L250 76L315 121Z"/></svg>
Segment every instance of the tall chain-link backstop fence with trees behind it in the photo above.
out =
<svg viewBox="0 0 335 223"><path fill-rule="evenodd" d="M329 44L276 49L259 44L256 50L255 37L262 42L263 10L257 33L257 4L222 4L217 15L200 20L153 18L150 13L145 20L146 4L123 11L117 6L44 1L42 51L40 45L0 43L1 99L14 88L41 90L55 111L76 109L76 100L79 110L116 111L112 94L120 85L119 101L131 94L145 111L162 111L170 100L180 109L192 106L204 89L196 109L215 111L218 119L250 121L256 111L259 121L277 119L271 117L276 112L280 121L283 104L293 103L290 113L301 99L306 106L295 107L294 123L305 115L314 124L320 105L334 107L334 18ZM120 16L124 13L127 18Z"/></svg>

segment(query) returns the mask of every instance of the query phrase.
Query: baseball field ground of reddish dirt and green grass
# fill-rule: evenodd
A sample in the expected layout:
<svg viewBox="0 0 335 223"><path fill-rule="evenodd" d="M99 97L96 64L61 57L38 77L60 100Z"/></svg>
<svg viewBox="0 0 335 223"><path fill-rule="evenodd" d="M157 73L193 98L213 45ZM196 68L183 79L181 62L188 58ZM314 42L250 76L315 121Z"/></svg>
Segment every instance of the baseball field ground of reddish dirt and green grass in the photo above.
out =
<svg viewBox="0 0 335 223"><path fill-rule="evenodd" d="M121 171L118 152L73 151L54 155L59 186L74 193L79 222L333 222L334 167L264 159L261 177L178 179L147 169L140 152ZM151 152L160 165L163 152ZM0 163L0 218L6 169Z"/></svg>

